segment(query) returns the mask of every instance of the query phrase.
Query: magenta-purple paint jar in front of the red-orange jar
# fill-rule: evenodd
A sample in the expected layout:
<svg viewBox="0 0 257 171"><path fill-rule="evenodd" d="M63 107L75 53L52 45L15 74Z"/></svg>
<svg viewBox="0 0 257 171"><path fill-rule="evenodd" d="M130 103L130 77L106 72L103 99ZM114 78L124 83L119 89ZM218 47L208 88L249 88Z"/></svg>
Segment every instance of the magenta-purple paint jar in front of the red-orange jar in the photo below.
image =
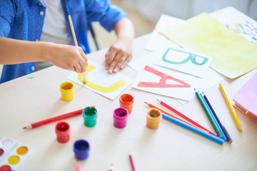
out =
<svg viewBox="0 0 257 171"><path fill-rule="evenodd" d="M114 126L116 128L125 128L129 112L126 108L116 108L114 110Z"/></svg>

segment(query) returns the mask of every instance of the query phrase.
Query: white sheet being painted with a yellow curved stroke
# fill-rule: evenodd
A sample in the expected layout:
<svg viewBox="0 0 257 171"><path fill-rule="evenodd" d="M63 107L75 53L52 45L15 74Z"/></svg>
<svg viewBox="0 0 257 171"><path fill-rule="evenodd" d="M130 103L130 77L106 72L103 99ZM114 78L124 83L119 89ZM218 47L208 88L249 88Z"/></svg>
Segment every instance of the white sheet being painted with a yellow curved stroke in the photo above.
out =
<svg viewBox="0 0 257 171"><path fill-rule="evenodd" d="M132 83L132 79L128 76L121 73L109 74L104 66L94 61L89 61L86 71L86 84L81 83L78 76L78 73L72 72L67 78L111 100L114 100Z"/></svg>

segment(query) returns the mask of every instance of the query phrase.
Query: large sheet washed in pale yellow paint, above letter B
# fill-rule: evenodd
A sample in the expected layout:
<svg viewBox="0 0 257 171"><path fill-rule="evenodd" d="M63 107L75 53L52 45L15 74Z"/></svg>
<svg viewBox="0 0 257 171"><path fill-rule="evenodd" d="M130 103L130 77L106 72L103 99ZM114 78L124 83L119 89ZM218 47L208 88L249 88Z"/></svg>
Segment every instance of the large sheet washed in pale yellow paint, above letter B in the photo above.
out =
<svg viewBox="0 0 257 171"><path fill-rule="evenodd" d="M236 78L257 67L257 46L203 13L164 34L183 48L213 57L211 67Z"/></svg>

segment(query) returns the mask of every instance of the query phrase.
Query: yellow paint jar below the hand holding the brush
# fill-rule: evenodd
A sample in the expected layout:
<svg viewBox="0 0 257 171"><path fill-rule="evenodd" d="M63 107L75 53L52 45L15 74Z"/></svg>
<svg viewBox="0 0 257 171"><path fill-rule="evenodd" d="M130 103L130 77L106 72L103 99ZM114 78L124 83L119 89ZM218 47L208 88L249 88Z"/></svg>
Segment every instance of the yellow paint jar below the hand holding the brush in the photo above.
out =
<svg viewBox="0 0 257 171"><path fill-rule="evenodd" d="M74 99L74 85L71 82L61 83L61 99L64 101L71 101Z"/></svg>

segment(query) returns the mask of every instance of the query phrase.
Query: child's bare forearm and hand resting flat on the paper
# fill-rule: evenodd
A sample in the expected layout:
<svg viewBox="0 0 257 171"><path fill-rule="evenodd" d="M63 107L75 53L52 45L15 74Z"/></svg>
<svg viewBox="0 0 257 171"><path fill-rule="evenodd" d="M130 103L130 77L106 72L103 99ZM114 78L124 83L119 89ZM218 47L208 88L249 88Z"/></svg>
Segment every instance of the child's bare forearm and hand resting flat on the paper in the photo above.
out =
<svg viewBox="0 0 257 171"><path fill-rule="evenodd" d="M132 58L132 43L134 38L133 24L128 18L119 20L114 31L116 42L106 53L106 70L108 73L117 73L123 69Z"/></svg>

